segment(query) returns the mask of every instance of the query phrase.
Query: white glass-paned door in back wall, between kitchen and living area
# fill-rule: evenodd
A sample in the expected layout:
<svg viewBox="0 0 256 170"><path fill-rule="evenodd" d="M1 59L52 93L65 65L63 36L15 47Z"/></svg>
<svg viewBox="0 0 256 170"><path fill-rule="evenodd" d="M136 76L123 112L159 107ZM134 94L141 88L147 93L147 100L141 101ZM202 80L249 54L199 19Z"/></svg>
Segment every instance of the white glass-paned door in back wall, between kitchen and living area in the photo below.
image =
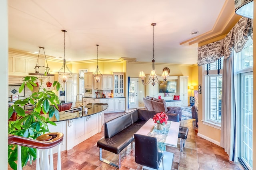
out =
<svg viewBox="0 0 256 170"><path fill-rule="evenodd" d="M130 78L128 109L138 108L138 78Z"/></svg>

